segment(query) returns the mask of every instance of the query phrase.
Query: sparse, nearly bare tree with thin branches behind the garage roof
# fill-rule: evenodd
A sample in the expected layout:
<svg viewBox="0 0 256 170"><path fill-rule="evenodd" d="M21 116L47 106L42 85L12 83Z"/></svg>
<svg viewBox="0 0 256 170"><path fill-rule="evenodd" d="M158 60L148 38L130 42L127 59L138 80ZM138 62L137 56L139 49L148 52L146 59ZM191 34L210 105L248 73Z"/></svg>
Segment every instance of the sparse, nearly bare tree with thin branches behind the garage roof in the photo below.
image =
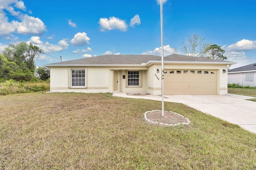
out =
<svg viewBox="0 0 256 170"><path fill-rule="evenodd" d="M210 44L204 43L204 38L200 37L196 33L191 37L188 35L188 40L182 40L181 51L188 56L203 57L203 53Z"/></svg>

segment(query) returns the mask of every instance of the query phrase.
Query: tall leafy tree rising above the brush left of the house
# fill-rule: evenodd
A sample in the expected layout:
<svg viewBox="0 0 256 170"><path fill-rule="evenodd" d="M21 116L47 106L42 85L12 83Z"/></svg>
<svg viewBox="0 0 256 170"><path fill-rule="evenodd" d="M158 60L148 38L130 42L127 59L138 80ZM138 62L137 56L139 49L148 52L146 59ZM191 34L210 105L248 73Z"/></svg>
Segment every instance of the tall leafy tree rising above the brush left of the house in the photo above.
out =
<svg viewBox="0 0 256 170"><path fill-rule="evenodd" d="M35 57L42 54L43 51L39 47L22 41L19 44L8 44L4 48L3 55L8 61L16 63L22 70L31 70L34 73Z"/></svg>

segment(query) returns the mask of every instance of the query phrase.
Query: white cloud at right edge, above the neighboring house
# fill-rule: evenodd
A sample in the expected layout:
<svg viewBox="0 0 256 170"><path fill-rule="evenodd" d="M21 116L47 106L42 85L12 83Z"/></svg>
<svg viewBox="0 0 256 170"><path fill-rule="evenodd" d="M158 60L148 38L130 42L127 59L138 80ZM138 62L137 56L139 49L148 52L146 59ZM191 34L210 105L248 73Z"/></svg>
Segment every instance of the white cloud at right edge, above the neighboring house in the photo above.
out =
<svg viewBox="0 0 256 170"><path fill-rule="evenodd" d="M226 51L250 51L256 49L256 41L242 39L234 44L223 46Z"/></svg>

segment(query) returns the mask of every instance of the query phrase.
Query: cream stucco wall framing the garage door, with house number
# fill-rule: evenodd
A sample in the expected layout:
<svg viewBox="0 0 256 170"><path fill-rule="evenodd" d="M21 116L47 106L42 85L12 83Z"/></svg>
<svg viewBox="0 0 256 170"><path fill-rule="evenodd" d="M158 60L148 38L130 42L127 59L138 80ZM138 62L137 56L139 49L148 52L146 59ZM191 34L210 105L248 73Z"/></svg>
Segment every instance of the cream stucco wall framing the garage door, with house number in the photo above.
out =
<svg viewBox="0 0 256 170"><path fill-rule="evenodd" d="M159 73L156 72L156 69L159 69ZM223 73L223 69L228 70L226 65L217 65L217 64L164 64L164 69L193 69L193 70L217 70L217 92L218 95L225 95L228 93L228 74ZM150 80L153 80L153 87L150 87L151 84L148 84L148 87L150 89L154 90L148 90L150 94L160 95L161 94L161 64L153 64L148 68L148 73L156 74L159 78L152 78ZM150 75L148 75L150 76ZM153 76L154 77L154 76ZM160 89L160 90L159 90Z"/></svg>

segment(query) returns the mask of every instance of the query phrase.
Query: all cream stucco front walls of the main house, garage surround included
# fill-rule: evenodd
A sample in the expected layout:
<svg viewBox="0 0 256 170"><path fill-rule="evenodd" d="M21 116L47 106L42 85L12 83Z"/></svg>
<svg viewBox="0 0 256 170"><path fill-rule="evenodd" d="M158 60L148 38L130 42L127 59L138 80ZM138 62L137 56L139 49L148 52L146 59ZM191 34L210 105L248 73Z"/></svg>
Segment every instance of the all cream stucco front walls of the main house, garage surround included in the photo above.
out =
<svg viewBox="0 0 256 170"><path fill-rule="evenodd" d="M151 64L148 67L86 67L86 88L70 88L70 68L83 67L51 67L50 87L51 92L84 92L107 93L113 92L113 70L118 70L118 91L120 92L148 92L161 95L161 64ZM226 65L213 64L164 64L165 69L193 69L217 70L218 95L227 94L228 74ZM159 72L157 72L159 69ZM127 70L140 70L140 87L127 86ZM125 78L123 78L123 75ZM256 74L254 74L256 76ZM159 80L158 80L159 79ZM256 78L254 78L256 80Z"/></svg>

